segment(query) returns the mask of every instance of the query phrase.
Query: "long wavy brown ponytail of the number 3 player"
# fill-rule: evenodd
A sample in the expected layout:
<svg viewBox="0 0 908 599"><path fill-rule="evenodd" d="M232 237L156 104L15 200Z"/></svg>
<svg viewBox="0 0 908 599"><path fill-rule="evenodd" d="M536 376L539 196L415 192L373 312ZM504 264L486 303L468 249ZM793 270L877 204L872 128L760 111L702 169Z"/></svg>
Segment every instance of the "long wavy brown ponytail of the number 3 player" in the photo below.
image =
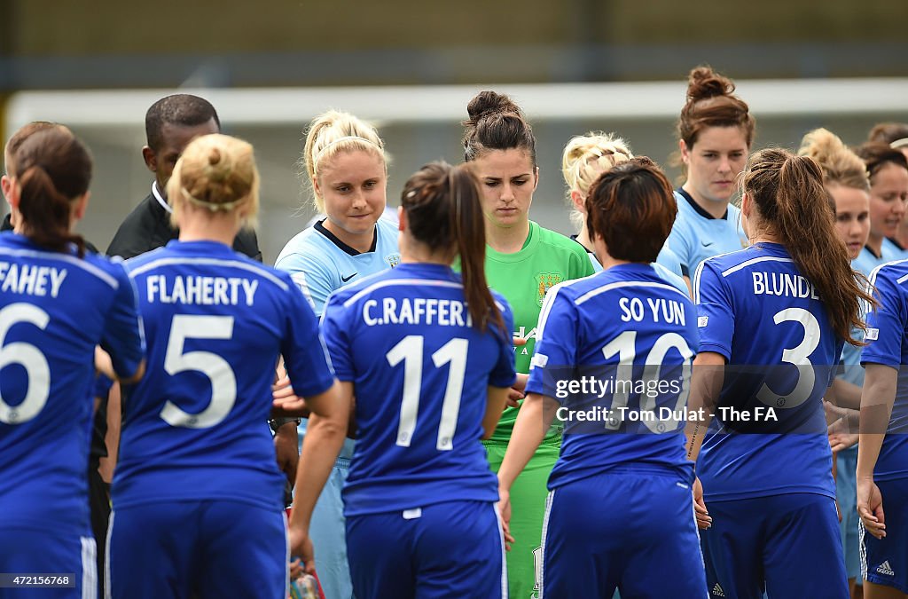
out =
<svg viewBox="0 0 908 599"><path fill-rule="evenodd" d="M835 334L852 345L853 329L866 330L861 301L875 304L851 267L848 251L835 233L834 214L823 185L823 171L808 156L769 148L753 155L744 174L744 191L761 219L771 226L795 265L822 298ZM865 283L865 281L864 281Z"/></svg>

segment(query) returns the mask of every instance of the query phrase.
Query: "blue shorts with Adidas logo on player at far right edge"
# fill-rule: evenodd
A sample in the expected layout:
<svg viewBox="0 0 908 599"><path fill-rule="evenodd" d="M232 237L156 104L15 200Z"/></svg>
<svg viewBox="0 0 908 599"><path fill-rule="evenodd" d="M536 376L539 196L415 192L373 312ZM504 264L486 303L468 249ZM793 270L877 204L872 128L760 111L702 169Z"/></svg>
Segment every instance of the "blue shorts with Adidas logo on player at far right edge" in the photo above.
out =
<svg viewBox="0 0 908 599"><path fill-rule="evenodd" d="M876 481L883 495L886 536L877 539L861 524L864 580L908 593L908 478Z"/></svg>

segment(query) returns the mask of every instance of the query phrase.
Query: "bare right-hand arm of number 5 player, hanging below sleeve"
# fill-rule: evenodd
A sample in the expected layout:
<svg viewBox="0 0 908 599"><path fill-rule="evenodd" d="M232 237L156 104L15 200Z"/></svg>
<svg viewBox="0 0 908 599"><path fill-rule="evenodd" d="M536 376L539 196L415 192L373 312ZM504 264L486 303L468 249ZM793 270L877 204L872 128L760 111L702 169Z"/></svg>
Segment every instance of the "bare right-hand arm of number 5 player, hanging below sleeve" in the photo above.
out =
<svg viewBox="0 0 908 599"><path fill-rule="evenodd" d="M315 573L309 524L315 502L341 453L347 434L352 383L335 382L328 391L306 398L311 411L296 471L296 495L290 519L291 554L302 558L306 572Z"/></svg>

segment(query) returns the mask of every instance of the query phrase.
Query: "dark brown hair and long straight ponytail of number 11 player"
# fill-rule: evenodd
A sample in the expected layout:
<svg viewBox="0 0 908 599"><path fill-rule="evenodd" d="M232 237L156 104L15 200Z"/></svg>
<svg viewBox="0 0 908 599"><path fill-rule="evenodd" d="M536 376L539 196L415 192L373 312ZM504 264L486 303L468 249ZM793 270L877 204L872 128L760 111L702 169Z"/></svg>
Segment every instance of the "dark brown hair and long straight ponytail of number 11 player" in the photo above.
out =
<svg viewBox="0 0 908 599"><path fill-rule="evenodd" d="M479 187L465 165L431 163L404 185L400 205L410 235L431 250L457 249L463 293L474 326L506 334L504 319L486 282L486 233Z"/></svg>

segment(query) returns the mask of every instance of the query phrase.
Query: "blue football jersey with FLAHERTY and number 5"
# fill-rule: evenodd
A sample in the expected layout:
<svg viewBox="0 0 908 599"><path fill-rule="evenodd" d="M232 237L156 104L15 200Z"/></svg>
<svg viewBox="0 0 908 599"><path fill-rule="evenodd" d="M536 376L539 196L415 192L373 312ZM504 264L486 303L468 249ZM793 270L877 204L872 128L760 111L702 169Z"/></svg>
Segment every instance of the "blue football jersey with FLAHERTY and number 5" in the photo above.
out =
<svg viewBox="0 0 908 599"><path fill-rule="evenodd" d="M333 384L318 323L286 273L210 241L129 260L148 372L123 399L114 506L230 499L280 509L266 424L282 354L297 394Z"/></svg>

